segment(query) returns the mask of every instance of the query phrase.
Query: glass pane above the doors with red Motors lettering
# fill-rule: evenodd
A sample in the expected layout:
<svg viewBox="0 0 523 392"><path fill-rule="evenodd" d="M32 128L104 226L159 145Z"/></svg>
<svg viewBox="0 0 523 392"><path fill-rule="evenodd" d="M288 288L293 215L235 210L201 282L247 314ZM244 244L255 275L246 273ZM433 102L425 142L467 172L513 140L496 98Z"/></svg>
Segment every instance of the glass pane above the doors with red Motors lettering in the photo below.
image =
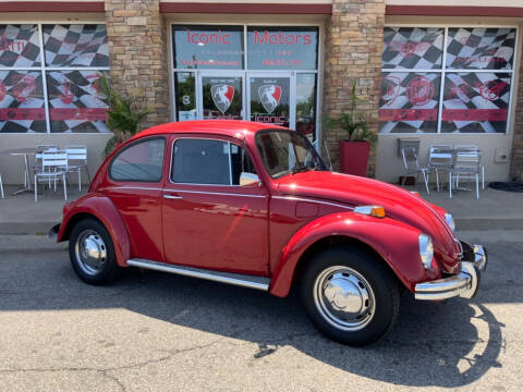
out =
<svg viewBox="0 0 523 392"><path fill-rule="evenodd" d="M316 27L248 27L250 70L316 70Z"/></svg>

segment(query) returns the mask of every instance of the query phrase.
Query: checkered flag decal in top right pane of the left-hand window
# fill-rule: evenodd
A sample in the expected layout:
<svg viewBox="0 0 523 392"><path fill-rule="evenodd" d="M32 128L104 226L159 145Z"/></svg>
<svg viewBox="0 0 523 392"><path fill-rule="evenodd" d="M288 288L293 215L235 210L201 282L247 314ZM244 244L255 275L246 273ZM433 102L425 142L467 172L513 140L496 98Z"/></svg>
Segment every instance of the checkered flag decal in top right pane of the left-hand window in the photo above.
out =
<svg viewBox="0 0 523 392"><path fill-rule="evenodd" d="M105 25L45 25L48 66L109 66Z"/></svg>

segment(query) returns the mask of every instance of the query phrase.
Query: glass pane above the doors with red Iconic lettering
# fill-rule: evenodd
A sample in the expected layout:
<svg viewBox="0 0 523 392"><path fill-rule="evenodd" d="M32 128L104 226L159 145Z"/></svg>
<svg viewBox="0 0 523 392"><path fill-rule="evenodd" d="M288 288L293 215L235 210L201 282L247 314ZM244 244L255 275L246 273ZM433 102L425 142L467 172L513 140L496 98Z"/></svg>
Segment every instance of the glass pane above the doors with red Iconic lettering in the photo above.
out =
<svg viewBox="0 0 523 392"><path fill-rule="evenodd" d="M242 70L242 26L172 26L174 68Z"/></svg>

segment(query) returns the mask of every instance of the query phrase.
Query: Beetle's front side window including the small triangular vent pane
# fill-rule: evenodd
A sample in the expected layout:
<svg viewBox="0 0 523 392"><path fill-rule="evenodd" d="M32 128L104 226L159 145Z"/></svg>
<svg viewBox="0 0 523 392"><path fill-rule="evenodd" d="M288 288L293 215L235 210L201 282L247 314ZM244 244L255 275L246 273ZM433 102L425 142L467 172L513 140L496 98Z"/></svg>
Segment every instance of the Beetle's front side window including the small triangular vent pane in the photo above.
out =
<svg viewBox="0 0 523 392"><path fill-rule="evenodd" d="M256 173L239 145L214 139L182 138L174 142L171 180L202 185L240 185L242 171Z"/></svg>

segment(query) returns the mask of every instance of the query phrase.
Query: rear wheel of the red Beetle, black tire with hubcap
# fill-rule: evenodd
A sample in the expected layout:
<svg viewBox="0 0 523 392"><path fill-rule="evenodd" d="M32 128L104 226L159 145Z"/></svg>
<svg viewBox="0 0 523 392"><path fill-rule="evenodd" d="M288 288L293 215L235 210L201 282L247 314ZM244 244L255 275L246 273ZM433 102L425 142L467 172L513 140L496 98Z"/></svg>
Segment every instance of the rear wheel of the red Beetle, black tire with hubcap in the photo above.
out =
<svg viewBox="0 0 523 392"><path fill-rule="evenodd" d="M98 252L99 268L88 266L94 258L84 258L81 244L85 240ZM114 246L107 229L95 218L86 218L76 223L69 238L69 257L74 271L85 283L101 285L113 282L120 274L120 267L114 256ZM83 261L84 260L84 261Z"/></svg>

